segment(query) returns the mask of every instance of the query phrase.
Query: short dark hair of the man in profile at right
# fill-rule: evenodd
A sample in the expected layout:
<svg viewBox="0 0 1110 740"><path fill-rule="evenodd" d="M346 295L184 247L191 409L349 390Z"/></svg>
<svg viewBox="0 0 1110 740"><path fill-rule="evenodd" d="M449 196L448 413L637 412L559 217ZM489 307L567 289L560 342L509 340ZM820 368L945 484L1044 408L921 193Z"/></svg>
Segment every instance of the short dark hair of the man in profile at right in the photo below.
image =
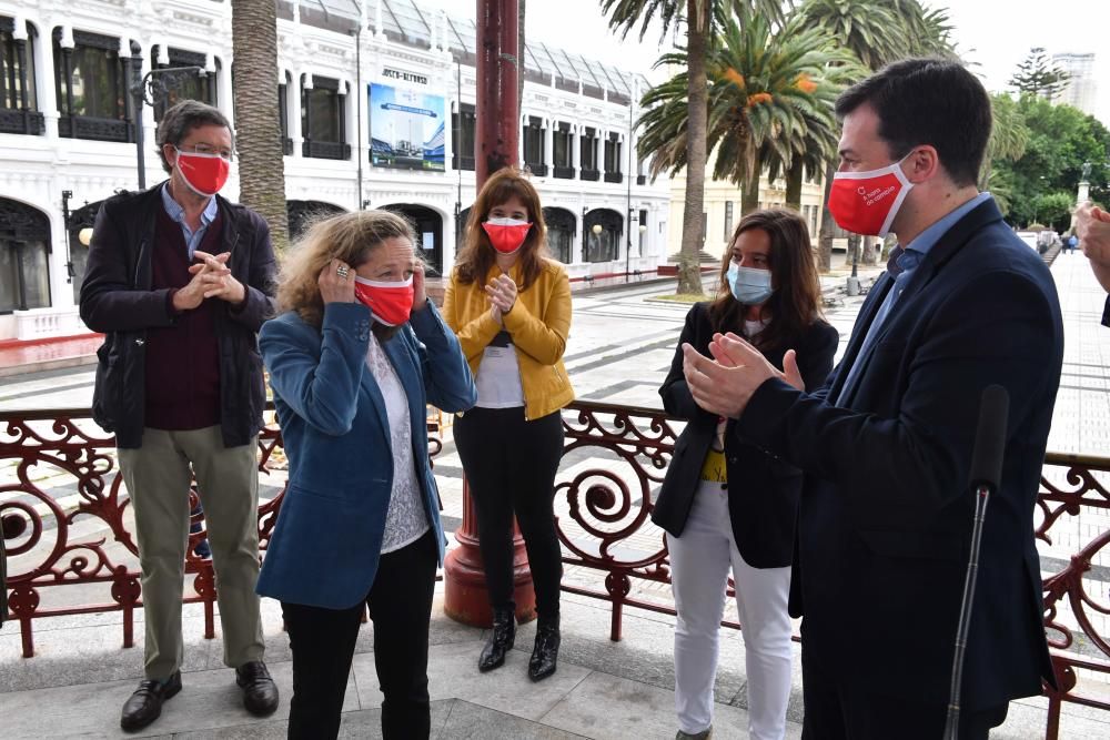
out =
<svg viewBox="0 0 1110 740"><path fill-rule="evenodd" d="M879 136L894 159L929 144L957 185L973 185L990 139L990 97L959 62L905 59L845 90L836 101L844 118L862 104L879 116Z"/></svg>

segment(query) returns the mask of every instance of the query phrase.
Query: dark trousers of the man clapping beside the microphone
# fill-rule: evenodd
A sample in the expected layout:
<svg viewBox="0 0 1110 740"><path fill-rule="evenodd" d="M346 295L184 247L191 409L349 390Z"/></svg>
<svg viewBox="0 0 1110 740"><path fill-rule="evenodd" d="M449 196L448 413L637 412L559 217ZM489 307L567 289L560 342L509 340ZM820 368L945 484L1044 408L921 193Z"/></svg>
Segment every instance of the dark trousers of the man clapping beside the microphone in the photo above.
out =
<svg viewBox="0 0 1110 740"><path fill-rule="evenodd" d="M801 682L806 718L801 740L940 740L947 704L921 703L877 693L881 677L867 686L848 679L801 645ZM908 687L907 687L908 688ZM1006 720L1009 704L976 711L961 709L960 740L987 740L990 728Z"/></svg>

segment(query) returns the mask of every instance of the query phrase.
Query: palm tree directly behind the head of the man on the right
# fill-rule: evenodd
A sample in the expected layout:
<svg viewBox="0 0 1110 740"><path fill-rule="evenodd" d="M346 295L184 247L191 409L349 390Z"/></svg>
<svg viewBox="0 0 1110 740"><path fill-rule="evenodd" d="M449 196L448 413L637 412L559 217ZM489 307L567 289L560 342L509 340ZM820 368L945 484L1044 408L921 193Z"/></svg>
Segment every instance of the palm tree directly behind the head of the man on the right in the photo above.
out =
<svg viewBox="0 0 1110 740"><path fill-rule="evenodd" d="M878 71L890 62L922 54L953 55L951 27L945 11L926 11L918 0L806 0L798 7L803 27L823 28L850 50L864 67ZM823 271L833 263L833 232L836 223L828 211L835 159L826 163L825 206L818 239L818 262ZM854 251L854 244L849 245ZM865 250L865 262L874 261Z"/></svg>

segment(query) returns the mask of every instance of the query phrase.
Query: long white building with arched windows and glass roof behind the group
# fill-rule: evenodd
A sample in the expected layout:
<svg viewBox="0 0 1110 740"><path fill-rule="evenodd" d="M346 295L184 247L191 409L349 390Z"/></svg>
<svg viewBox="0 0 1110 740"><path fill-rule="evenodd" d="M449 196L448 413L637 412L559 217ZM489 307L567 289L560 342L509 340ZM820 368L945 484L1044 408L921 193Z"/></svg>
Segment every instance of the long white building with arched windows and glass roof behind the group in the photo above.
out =
<svg viewBox="0 0 1110 740"><path fill-rule="evenodd" d="M470 7L448 17L413 0L279 0L294 231L320 211L389 207L416 223L433 268L450 270L474 200ZM669 183L646 182L633 155L646 83L543 38L527 47L521 161L552 252L572 280L654 271L677 246L666 247ZM0 0L0 342L85 331L81 230L103 199L138 186L135 64L193 68L141 107L151 185L164 176L152 142L165 104L193 97L234 121L230 1ZM224 194L238 192L233 168Z"/></svg>

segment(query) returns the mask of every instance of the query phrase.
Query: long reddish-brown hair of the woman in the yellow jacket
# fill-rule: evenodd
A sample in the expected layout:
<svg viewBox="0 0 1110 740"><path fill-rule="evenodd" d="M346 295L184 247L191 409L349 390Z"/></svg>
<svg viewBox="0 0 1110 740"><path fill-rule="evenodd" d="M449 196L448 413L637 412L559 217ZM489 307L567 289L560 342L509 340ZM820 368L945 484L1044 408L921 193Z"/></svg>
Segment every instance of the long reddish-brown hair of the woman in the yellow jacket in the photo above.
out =
<svg viewBox="0 0 1110 740"><path fill-rule="evenodd" d="M524 172L505 168L490 175L471 206L471 215L466 220L466 243L455 256L455 275L460 283L485 284L490 268L497 262L497 252L482 229L482 222L490 217L490 211L495 206L514 196L524 203L532 221L532 229L524 239L518 257L522 276L519 288L526 290L539 277L547 254L547 226L544 224L544 210L539 205L539 193Z"/></svg>

